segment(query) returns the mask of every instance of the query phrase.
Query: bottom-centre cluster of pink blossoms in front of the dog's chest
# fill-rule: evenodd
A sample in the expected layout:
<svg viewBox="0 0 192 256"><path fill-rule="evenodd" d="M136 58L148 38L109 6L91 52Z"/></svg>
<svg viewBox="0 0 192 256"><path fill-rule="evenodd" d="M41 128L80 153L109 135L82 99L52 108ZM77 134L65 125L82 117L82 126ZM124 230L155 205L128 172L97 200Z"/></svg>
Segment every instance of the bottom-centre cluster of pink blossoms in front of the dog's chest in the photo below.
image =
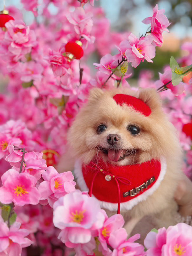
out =
<svg viewBox="0 0 192 256"><path fill-rule="evenodd" d="M76 255L93 255L96 243L103 255L144 255L144 247L134 243L139 234L127 240L122 215L108 218L98 201L85 192L75 190L60 197L53 209L53 223L62 230L58 238L74 248Z"/></svg>

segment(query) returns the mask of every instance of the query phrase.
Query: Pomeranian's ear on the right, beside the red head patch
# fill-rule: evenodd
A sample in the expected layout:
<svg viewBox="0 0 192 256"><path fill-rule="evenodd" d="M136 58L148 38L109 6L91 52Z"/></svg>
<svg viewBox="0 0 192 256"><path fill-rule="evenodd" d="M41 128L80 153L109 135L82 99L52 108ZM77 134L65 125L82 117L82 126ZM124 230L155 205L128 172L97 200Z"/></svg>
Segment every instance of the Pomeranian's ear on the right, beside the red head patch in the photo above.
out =
<svg viewBox="0 0 192 256"><path fill-rule="evenodd" d="M161 98L153 88L140 89L139 99L146 103L152 111L161 108Z"/></svg>

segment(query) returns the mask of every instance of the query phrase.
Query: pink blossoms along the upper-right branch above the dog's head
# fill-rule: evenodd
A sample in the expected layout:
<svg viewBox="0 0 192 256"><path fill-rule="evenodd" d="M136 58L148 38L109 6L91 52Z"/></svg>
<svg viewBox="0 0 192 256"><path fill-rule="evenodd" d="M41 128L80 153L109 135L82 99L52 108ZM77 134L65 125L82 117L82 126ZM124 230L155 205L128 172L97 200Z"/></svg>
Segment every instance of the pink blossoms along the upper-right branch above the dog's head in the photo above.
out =
<svg viewBox="0 0 192 256"><path fill-rule="evenodd" d="M142 21L143 23L151 24L150 35L141 36L140 39L138 39L133 33L130 33L128 40L120 42L118 47L120 54L113 57L110 54L106 54L101 58L100 64L94 63L94 65L97 66L97 69L110 75L112 72L114 73L115 68L118 65L118 58L120 62L124 57L127 58L126 60L130 62L134 68L144 60L153 62L151 59L155 57L155 46L162 46L162 32L168 32L167 27L170 25L168 18L164 15L164 9L159 10L158 5L156 4L153 12L153 17L146 18ZM121 65L120 67L123 66ZM127 70L125 73L126 72Z"/></svg>

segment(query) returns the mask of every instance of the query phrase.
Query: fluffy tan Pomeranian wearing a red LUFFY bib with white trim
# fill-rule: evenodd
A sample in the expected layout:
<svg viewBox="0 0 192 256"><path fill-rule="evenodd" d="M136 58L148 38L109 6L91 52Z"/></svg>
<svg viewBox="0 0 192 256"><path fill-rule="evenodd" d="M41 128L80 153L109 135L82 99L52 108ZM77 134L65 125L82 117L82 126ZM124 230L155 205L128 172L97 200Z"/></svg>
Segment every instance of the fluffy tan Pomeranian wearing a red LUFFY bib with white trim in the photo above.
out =
<svg viewBox="0 0 192 256"><path fill-rule="evenodd" d="M74 169L82 191L124 216L128 234L144 216L155 216L156 228L177 223L182 151L154 89L92 89L67 148L58 171Z"/></svg>

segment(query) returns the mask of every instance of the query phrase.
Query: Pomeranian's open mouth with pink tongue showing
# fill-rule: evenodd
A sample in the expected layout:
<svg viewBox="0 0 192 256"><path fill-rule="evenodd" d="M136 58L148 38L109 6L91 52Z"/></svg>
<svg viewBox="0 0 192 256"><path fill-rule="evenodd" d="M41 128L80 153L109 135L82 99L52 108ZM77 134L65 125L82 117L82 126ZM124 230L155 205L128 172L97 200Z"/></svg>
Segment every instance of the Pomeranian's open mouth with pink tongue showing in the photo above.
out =
<svg viewBox="0 0 192 256"><path fill-rule="evenodd" d="M105 148L102 148L101 152L103 152L105 155L107 155L109 160L117 162L117 161L121 161L121 160L125 159L125 157L127 157L127 156L135 155L137 150L136 149L129 149L129 150L110 149L110 150L107 150Z"/></svg>

